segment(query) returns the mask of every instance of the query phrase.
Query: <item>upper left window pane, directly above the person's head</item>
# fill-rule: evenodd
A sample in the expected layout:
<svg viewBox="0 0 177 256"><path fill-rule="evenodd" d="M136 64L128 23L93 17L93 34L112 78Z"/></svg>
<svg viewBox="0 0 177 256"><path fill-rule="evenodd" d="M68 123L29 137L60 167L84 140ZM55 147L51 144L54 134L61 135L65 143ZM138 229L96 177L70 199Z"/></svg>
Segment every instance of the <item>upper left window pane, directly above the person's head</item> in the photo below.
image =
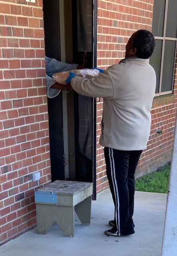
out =
<svg viewBox="0 0 177 256"><path fill-rule="evenodd" d="M154 0L153 7L153 30L154 36L163 36L165 20L165 0Z"/></svg>

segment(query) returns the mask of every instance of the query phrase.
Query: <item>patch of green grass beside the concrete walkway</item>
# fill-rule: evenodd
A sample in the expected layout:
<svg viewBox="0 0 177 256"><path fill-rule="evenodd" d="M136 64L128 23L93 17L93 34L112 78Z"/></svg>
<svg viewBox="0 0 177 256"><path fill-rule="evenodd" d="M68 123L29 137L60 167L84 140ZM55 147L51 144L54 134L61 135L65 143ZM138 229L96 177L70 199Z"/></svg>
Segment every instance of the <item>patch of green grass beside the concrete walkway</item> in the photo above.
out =
<svg viewBox="0 0 177 256"><path fill-rule="evenodd" d="M167 193L169 184L170 165L164 166L157 172L147 174L135 181L135 190L145 192Z"/></svg>

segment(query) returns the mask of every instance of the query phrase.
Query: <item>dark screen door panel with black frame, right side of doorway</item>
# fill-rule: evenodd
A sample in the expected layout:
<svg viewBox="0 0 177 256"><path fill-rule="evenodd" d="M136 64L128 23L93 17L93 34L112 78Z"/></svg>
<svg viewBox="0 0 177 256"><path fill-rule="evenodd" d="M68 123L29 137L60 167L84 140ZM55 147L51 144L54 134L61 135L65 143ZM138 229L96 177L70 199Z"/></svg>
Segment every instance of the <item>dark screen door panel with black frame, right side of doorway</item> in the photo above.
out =
<svg viewBox="0 0 177 256"><path fill-rule="evenodd" d="M93 0L73 0L73 59L75 63L87 50L85 68L96 65L96 12ZM95 15L94 15L95 14ZM95 32L95 34L94 34ZM95 46L95 48L94 48ZM93 182L96 187L96 101L74 93L76 180Z"/></svg>

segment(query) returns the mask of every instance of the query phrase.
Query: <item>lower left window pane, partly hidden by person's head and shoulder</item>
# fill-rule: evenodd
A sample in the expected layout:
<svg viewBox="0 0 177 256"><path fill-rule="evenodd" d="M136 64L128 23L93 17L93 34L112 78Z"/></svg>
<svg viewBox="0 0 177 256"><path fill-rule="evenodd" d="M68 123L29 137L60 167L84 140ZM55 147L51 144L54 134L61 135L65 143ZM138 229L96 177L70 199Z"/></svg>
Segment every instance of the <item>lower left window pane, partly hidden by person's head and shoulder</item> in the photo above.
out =
<svg viewBox="0 0 177 256"><path fill-rule="evenodd" d="M155 69L156 78L157 78L155 93L159 93L162 45L163 45L163 40L157 40L157 39L155 40L155 50L150 58L150 64Z"/></svg>

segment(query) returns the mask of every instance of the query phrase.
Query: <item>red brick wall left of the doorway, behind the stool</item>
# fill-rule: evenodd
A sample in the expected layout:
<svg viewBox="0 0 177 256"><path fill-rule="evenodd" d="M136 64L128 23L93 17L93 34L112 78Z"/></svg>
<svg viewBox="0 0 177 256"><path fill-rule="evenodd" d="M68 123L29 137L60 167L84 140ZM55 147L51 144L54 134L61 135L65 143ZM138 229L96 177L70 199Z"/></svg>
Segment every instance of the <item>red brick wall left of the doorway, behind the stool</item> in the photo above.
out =
<svg viewBox="0 0 177 256"><path fill-rule="evenodd" d="M36 225L50 181L44 56L42 0L0 1L0 245Z"/></svg>

